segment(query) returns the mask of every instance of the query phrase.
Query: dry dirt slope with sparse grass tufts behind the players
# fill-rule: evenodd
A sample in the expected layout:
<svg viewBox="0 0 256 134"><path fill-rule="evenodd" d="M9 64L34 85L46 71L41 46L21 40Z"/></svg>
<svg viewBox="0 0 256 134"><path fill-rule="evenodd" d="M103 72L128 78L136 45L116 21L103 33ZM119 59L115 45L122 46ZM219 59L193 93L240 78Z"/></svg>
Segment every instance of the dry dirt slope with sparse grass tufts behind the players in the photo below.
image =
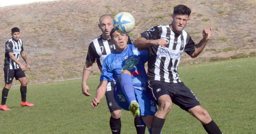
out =
<svg viewBox="0 0 256 134"><path fill-rule="evenodd" d="M256 1L254 0L61 0L0 8L0 64L10 29L19 27L32 71L30 83L81 78L90 41L100 35L102 14L131 12L136 20L132 37L151 26L169 24L173 7L185 4L192 9L185 28L198 42L202 30L214 27L212 38L199 58L183 55L184 63L197 63L219 56L256 52ZM95 72L98 71L94 65ZM4 83L0 71L0 83Z"/></svg>

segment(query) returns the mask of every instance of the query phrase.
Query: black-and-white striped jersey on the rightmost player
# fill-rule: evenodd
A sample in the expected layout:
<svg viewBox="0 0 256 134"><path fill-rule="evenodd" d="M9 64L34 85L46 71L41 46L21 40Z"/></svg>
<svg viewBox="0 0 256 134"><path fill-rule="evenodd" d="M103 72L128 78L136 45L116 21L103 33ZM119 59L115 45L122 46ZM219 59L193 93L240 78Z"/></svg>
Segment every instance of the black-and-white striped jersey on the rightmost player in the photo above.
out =
<svg viewBox="0 0 256 134"><path fill-rule="evenodd" d="M181 82L178 73L180 56L183 51L191 55L195 51L195 43L189 34L182 30L174 33L171 25L155 26L141 33L148 40L163 38L167 41L166 48L150 46L148 51L148 80L158 80L169 83Z"/></svg>

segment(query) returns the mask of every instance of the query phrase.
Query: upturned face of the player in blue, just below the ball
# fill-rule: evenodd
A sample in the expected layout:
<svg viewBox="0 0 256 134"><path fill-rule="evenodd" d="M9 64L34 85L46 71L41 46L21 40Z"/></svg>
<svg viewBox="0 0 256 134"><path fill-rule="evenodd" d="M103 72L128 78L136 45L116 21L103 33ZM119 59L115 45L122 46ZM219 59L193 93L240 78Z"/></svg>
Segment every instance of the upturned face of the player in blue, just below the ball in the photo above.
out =
<svg viewBox="0 0 256 134"><path fill-rule="evenodd" d="M127 48L128 36L115 31L112 33L112 43L116 46L117 52L123 52Z"/></svg>

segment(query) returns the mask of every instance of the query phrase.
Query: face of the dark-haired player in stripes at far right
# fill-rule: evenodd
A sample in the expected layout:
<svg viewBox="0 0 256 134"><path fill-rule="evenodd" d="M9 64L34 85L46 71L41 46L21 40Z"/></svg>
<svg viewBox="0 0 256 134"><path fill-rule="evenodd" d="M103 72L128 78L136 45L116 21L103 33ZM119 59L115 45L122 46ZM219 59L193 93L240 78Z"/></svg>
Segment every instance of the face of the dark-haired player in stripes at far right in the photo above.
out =
<svg viewBox="0 0 256 134"><path fill-rule="evenodd" d="M175 33L181 33L188 23L188 15L172 15L171 28Z"/></svg>

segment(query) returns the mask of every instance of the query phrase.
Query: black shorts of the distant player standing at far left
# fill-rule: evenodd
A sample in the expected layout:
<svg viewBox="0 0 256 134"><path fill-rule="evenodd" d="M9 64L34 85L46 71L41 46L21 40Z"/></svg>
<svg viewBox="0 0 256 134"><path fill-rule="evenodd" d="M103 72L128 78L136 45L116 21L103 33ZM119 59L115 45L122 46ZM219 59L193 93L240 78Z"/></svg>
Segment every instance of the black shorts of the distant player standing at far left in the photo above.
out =
<svg viewBox="0 0 256 134"><path fill-rule="evenodd" d="M13 78L15 77L16 80L22 77L26 77L25 73L21 70L21 68L18 69L7 69L4 68L4 81L5 83L12 83Z"/></svg>

